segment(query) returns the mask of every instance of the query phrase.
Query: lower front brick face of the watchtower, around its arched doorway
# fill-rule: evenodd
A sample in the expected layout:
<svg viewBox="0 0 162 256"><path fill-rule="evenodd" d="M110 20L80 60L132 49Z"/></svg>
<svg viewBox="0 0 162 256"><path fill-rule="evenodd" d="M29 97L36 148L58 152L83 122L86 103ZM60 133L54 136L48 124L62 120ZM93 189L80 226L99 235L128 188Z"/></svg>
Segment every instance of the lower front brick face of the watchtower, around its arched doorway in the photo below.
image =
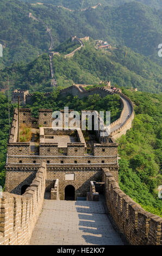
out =
<svg viewBox="0 0 162 256"><path fill-rule="evenodd" d="M39 163L42 162L43 159L45 158L42 158L39 161L36 159L36 163L33 164L31 163L31 159L28 160L30 162L28 164L23 162L23 159L22 163L12 163L11 166L8 164L6 167L5 191L21 194L21 187L23 185L30 185L32 183L38 170ZM74 163L76 160L77 163ZM63 195L60 199L64 199L64 188L61 188L61 186L68 182L65 179L66 174L75 175L73 183L77 187L77 196L86 196L86 192L89 191L90 180L97 182L102 181L102 167L109 168L109 170L112 171L115 180L118 181L119 166L116 163L108 164L106 161L105 163L101 163L101 160L97 161L97 159L94 163L92 158L90 160L91 163L88 163L89 160L86 159L86 157L83 163L83 160L80 159L80 156L78 156L78 158L67 157L67 162L65 161L64 157L60 157L60 160L57 163L54 161L52 163L51 159L49 159L49 161L50 163L46 164L46 187L48 188L48 191L50 191L50 189L54 187L55 180L59 179L59 191ZM63 163L60 163L61 161L63 161Z"/></svg>

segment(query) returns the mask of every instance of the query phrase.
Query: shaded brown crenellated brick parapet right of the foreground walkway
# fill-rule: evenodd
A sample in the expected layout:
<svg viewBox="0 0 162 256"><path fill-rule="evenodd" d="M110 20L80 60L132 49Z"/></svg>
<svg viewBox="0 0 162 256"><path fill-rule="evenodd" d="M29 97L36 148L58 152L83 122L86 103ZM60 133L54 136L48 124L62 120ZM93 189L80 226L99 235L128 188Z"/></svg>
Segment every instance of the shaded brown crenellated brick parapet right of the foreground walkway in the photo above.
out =
<svg viewBox="0 0 162 256"><path fill-rule="evenodd" d="M162 218L145 211L123 193L108 169L103 173L107 208L130 244L162 245Z"/></svg>

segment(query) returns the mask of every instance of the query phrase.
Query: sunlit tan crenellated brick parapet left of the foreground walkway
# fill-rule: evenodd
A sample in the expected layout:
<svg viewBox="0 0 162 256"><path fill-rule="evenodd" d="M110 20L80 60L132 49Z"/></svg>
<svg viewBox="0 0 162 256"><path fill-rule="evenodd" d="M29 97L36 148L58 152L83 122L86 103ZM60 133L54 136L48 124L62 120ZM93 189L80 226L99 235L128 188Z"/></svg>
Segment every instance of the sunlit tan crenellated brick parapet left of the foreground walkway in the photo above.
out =
<svg viewBox="0 0 162 256"><path fill-rule="evenodd" d="M42 209L46 187L46 164L23 196L3 193L0 199L0 245L28 245Z"/></svg>

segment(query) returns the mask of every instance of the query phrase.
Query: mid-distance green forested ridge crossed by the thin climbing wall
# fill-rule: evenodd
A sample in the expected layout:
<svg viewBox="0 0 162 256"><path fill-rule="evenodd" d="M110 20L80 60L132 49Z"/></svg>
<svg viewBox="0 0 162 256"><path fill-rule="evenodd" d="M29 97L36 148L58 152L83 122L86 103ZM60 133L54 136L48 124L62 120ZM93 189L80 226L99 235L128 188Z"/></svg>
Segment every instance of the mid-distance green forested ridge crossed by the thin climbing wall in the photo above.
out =
<svg viewBox="0 0 162 256"><path fill-rule="evenodd" d="M134 53L127 47L106 51L96 50L93 40L84 44L85 47L72 58L65 59L64 54L53 57L54 77L57 78L59 86L71 86L73 83L99 84L101 80L110 80L114 86L161 92L162 69L149 58ZM58 50L68 51L65 46L66 42ZM16 88L29 89L30 92L52 90L48 54L42 54L29 64L16 63L1 70L1 90L7 88L8 74L10 91Z"/></svg>

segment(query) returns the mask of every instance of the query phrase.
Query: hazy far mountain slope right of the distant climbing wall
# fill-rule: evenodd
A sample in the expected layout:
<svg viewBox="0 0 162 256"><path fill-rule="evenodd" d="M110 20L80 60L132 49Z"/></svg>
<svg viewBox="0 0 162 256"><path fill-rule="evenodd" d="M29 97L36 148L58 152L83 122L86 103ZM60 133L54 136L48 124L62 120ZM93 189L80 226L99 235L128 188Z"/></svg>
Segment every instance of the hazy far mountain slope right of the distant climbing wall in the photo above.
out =
<svg viewBox="0 0 162 256"><path fill-rule="evenodd" d="M162 43L162 10L139 2L74 12L53 5L32 5L32 9L52 28L55 44L71 35L89 35L93 39L126 45L161 63L158 45Z"/></svg>

